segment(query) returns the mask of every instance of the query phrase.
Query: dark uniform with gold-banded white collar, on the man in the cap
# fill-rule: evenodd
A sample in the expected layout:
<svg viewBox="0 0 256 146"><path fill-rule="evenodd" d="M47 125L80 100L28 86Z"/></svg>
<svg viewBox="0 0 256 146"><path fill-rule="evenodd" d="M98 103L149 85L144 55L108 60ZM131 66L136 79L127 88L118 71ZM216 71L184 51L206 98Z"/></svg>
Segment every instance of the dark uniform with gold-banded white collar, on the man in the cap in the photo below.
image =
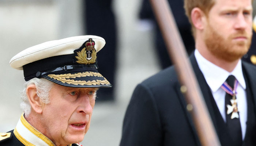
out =
<svg viewBox="0 0 256 146"><path fill-rule="evenodd" d="M31 126L23 114L14 130L0 133L0 146L55 146L54 143L41 132ZM82 146L80 143L68 146Z"/></svg>

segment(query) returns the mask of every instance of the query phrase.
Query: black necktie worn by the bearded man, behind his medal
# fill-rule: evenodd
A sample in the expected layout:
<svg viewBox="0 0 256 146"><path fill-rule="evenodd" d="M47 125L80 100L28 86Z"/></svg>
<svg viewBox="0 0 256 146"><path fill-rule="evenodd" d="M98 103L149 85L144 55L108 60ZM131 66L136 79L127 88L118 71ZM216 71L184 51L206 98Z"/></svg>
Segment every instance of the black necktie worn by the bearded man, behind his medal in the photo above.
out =
<svg viewBox="0 0 256 146"><path fill-rule="evenodd" d="M226 82L232 89L234 89L235 80L236 80L236 77L234 77L233 75L230 75L229 77L227 77ZM225 96L225 110L226 110L226 120L227 120L226 125L227 125L227 130L229 131L229 135L231 137L230 144L232 146L241 146L242 131L241 131L240 119L239 117L231 119L231 115L233 114L233 112L235 112L235 109L230 114L227 113L227 110L228 110L227 105L232 106L232 103L230 100L234 98L236 99L236 97L233 97L229 93L226 93L226 96Z"/></svg>

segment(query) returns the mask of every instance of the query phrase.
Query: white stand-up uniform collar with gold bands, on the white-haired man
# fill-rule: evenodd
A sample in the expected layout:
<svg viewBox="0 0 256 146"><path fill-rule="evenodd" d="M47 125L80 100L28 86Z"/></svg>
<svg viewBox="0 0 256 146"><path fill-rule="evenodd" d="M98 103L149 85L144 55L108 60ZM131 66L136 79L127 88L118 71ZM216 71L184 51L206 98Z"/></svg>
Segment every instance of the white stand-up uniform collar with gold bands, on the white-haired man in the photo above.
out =
<svg viewBox="0 0 256 146"><path fill-rule="evenodd" d="M14 134L25 146L55 146L49 138L27 122L24 118L24 113L20 116L19 122L14 129Z"/></svg>

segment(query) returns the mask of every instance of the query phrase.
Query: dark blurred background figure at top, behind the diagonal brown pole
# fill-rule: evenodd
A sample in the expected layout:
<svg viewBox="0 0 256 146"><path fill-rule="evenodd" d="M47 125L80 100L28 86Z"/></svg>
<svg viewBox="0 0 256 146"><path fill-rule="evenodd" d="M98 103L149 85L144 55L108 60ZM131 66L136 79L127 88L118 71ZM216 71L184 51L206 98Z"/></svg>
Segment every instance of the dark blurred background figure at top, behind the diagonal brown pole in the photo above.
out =
<svg viewBox="0 0 256 146"><path fill-rule="evenodd" d="M191 25L188 22L187 16L185 15L183 0L168 0L168 2L172 9L178 29L180 31L181 38L189 55L195 49L195 42L191 34ZM153 25L155 25L154 47L157 49L156 53L158 55L158 58L160 59L161 68L164 69L172 65L172 62L170 61L170 57L166 50L165 42L163 41L161 31L159 29L157 20L153 14L149 0L142 1L139 18L142 21L151 20Z"/></svg>

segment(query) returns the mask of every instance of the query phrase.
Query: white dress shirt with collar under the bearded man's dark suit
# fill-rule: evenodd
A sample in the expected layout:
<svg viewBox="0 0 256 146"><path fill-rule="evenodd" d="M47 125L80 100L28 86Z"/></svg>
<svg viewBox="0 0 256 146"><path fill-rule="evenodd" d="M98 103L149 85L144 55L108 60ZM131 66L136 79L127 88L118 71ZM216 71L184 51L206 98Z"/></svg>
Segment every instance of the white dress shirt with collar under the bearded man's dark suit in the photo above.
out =
<svg viewBox="0 0 256 146"><path fill-rule="evenodd" d="M242 139L244 140L246 132L246 121L247 121L247 100L246 100L246 84L244 76L242 73L242 63L241 59L238 61L236 68L232 72L228 72L219 66L212 64L210 61L205 59L199 51L195 50L195 57L197 64L202 71L207 84L211 89L211 93L214 100L219 108L219 112L222 115L223 120L226 122L226 112L225 111L225 95L226 92L221 88L221 85L226 81L229 75L236 77L239 82L237 87L237 108L239 111ZM199 83L200 84L200 83Z"/></svg>

